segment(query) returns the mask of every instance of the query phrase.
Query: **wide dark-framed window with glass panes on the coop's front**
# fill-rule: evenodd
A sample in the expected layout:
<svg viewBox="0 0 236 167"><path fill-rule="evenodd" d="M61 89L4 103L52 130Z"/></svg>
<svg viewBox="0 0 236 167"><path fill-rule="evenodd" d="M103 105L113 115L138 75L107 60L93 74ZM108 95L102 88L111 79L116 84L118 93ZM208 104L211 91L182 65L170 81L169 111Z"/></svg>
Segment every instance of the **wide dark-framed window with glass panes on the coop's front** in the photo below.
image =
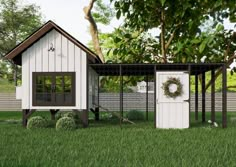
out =
<svg viewBox="0 0 236 167"><path fill-rule="evenodd" d="M75 73L33 72L33 106L75 106Z"/></svg>

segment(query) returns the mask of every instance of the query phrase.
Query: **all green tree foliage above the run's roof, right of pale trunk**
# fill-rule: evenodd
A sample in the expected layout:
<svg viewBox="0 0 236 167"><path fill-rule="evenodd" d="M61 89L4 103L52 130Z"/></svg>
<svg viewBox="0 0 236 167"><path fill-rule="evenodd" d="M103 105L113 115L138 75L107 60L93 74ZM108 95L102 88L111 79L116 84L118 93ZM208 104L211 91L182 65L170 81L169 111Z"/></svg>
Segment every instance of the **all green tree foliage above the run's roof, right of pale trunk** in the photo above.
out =
<svg viewBox="0 0 236 167"><path fill-rule="evenodd" d="M224 19L236 22L233 1L111 2L124 24L99 35L107 63L200 63L206 56L205 62L229 65L236 58L236 33L222 26ZM209 21L212 24L206 25ZM209 28L204 30L204 26ZM153 30L160 34L150 34ZM216 78L220 73L217 71ZM112 81L107 80L107 85Z"/></svg>

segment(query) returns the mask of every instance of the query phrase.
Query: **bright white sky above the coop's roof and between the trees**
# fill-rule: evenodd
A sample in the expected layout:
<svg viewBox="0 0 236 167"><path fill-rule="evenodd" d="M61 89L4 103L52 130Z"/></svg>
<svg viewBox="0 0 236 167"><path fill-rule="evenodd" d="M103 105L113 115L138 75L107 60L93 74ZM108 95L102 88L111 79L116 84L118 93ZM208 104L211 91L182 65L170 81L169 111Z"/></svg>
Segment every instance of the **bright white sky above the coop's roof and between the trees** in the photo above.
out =
<svg viewBox="0 0 236 167"><path fill-rule="evenodd" d="M105 1L109 2L109 0ZM83 12L83 8L89 3L89 0L24 0L23 2L40 6L45 21L54 21L83 44L86 45L91 40L88 31L89 22L84 18ZM98 25L98 28L102 32L111 32L121 22L114 19L110 26ZM234 28L229 21L225 22L225 27Z"/></svg>

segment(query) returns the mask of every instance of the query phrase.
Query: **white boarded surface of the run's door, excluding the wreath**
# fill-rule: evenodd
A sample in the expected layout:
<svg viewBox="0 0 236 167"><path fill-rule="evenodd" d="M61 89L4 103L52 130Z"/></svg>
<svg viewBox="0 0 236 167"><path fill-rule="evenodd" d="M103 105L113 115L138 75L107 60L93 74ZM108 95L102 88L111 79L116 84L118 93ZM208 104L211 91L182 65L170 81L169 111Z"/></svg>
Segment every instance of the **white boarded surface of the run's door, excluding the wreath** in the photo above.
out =
<svg viewBox="0 0 236 167"><path fill-rule="evenodd" d="M189 75L183 72L157 72L156 81L156 127L188 128L189 127ZM169 77L177 77L183 84L181 97L168 98L161 88Z"/></svg>

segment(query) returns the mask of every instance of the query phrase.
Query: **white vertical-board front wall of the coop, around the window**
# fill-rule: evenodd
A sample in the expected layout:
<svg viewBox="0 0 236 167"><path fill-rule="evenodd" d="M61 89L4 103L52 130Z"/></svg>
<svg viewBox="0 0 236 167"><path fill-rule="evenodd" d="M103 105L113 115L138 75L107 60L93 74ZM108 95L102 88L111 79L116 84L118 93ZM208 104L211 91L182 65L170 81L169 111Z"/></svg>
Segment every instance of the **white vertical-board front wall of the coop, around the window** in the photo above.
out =
<svg viewBox="0 0 236 167"><path fill-rule="evenodd" d="M50 46L54 51L48 51ZM32 106L33 72L76 72L76 106L50 109L86 109L87 54L56 30L48 32L22 54L22 109L49 109Z"/></svg>

